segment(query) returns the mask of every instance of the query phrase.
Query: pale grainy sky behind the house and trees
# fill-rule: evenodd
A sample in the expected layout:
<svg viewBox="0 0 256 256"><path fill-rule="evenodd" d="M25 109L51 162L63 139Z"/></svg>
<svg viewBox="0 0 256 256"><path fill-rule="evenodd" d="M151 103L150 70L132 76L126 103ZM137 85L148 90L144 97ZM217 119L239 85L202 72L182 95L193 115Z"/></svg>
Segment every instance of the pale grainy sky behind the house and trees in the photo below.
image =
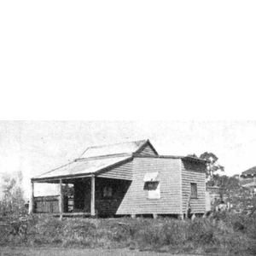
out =
<svg viewBox="0 0 256 256"><path fill-rule="evenodd" d="M86 148L143 139L159 154L211 152L228 176L256 166L256 120L0 120L0 174L21 171L28 198L31 177ZM35 195L43 190L35 185Z"/></svg>

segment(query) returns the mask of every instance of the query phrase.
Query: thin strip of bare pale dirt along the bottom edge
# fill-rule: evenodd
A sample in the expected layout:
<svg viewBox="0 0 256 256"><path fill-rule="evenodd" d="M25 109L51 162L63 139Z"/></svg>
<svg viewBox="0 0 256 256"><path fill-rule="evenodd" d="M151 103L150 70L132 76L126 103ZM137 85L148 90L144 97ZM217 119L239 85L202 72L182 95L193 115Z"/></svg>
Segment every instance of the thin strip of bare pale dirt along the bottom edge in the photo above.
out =
<svg viewBox="0 0 256 256"><path fill-rule="evenodd" d="M0 247L0 256L201 256L199 254L172 254L129 249L73 249L73 248L26 248Z"/></svg>

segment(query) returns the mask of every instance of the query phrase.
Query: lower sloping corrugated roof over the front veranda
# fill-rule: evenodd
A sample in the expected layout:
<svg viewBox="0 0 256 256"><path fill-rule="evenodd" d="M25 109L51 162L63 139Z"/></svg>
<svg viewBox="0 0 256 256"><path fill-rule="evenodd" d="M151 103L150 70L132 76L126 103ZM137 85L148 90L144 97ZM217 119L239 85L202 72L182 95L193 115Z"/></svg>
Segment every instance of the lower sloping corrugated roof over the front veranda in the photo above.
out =
<svg viewBox="0 0 256 256"><path fill-rule="evenodd" d="M44 179L49 177L72 177L75 175L95 173L130 158L131 154L126 154L122 156L106 158L74 160L66 166L61 166L55 170L41 174L38 177L33 177L33 179Z"/></svg>

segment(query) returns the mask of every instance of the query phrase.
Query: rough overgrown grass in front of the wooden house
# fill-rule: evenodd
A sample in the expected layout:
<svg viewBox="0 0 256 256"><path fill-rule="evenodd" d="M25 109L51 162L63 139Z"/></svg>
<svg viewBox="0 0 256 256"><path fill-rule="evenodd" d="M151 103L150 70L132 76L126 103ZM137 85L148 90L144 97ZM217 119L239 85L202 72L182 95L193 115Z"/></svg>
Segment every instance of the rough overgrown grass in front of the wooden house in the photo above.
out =
<svg viewBox="0 0 256 256"><path fill-rule="evenodd" d="M256 214L173 218L65 218L34 215L20 231L0 230L0 246L129 247L172 253L256 254ZM23 231L22 231L23 226Z"/></svg>

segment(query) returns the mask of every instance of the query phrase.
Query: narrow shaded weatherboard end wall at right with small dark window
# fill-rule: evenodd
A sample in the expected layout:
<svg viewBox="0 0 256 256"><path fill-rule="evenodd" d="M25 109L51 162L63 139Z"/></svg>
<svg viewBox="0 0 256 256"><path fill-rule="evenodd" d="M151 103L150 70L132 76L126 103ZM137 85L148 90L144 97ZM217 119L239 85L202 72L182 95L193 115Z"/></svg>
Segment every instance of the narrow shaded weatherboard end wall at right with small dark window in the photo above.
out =
<svg viewBox="0 0 256 256"><path fill-rule="evenodd" d="M206 166L198 161L181 160L183 213L186 212L190 183L197 184L197 198L190 199L193 212L206 212Z"/></svg>

